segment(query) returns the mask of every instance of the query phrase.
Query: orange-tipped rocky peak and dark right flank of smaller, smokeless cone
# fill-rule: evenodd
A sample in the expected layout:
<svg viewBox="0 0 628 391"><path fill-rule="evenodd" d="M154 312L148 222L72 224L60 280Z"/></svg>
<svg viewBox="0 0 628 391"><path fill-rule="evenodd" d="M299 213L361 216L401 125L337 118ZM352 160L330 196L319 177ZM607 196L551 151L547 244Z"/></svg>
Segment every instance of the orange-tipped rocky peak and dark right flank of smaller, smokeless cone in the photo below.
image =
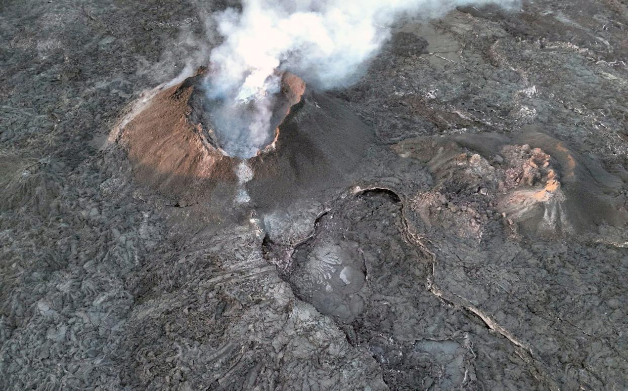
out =
<svg viewBox="0 0 628 391"><path fill-rule="evenodd" d="M522 133L519 146L501 150L517 162L517 184L506 184L498 209L528 233L543 236L595 234L601 226L622 228L628 214L620 202L624 182L599 163L538 131ZM516 151L516 148L519 151ZM515 154L527 157L517 159Z"/></svg>

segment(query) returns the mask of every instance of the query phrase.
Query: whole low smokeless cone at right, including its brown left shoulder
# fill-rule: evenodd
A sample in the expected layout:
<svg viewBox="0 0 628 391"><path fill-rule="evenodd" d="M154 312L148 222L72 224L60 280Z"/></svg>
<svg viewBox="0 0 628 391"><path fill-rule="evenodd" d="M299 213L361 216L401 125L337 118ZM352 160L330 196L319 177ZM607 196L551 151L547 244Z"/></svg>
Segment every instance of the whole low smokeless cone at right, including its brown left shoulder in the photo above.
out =
<svg viewBox="0 0 628 391"><path fill-rule="evenodd" d="M528 236L595 236L601 226L622 228L628 222L619 197L622 180L538 131L513 138L497 133L415 138L394 150L425 163L438 189L458 201L484 194L480 200L490 200L507 225Z"/></svg>

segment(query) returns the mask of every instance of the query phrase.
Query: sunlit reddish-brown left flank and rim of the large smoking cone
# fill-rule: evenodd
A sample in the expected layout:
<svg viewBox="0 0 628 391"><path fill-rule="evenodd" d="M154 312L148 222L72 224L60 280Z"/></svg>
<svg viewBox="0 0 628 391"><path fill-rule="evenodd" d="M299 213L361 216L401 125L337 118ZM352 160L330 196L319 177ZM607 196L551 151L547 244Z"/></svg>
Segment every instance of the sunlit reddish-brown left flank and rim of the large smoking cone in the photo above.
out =
<svg viewBox="0 0 628 391"><path fill-rule="evenodd" d="M135 179L180 205L210 197L219 187L236 187L239 180L236 169L242 159L230 157L220 148L205 111L207 104L212 104L203 89L206 72L200 68L179 84L161 87L121 129L119 138ZM276 105L276 112L281 113L279 122L304 91L303 80L283 74ZM260 154L273 150L277 137L278 128L271 145Z"/></svg>

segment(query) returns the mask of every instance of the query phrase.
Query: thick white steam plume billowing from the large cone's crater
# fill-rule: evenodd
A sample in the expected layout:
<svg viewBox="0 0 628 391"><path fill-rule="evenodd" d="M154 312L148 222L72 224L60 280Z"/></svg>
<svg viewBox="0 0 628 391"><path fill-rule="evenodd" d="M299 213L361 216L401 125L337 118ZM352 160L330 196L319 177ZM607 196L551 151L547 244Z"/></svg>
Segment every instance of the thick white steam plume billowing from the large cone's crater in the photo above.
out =
<svg viewBox="0 0 628 391"><path fill-rule="evenodd" d="M399 16L434 18L456 6L518 0L244 0L215 13L223 43L210 55L210 99L227 153L251 157L268 141L274 94L290 70L318 89L354 82Z"/></svg>

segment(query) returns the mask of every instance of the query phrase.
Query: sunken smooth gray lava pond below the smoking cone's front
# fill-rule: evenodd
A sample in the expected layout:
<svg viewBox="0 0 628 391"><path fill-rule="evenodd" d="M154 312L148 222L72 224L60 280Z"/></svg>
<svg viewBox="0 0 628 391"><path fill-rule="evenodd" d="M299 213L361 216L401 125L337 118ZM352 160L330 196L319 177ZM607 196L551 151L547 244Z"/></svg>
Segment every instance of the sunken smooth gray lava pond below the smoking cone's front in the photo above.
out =
<svg viewBox="0 0 628 391"><path fill-rule="evenodd" d="M399 221L401 209L387 197L399 201L394 195L369 192L324 214L315 224L313 238L293 254L288 280L304 300L338 322L353 322L369 305L365 300L376 283L368 274L371 268L413 254L409 248L396 254L391 249L399 234L395 216ZM393 248L401 246L403 241L398 241ZM408 263L416 263L416 258Z"/></svg>

